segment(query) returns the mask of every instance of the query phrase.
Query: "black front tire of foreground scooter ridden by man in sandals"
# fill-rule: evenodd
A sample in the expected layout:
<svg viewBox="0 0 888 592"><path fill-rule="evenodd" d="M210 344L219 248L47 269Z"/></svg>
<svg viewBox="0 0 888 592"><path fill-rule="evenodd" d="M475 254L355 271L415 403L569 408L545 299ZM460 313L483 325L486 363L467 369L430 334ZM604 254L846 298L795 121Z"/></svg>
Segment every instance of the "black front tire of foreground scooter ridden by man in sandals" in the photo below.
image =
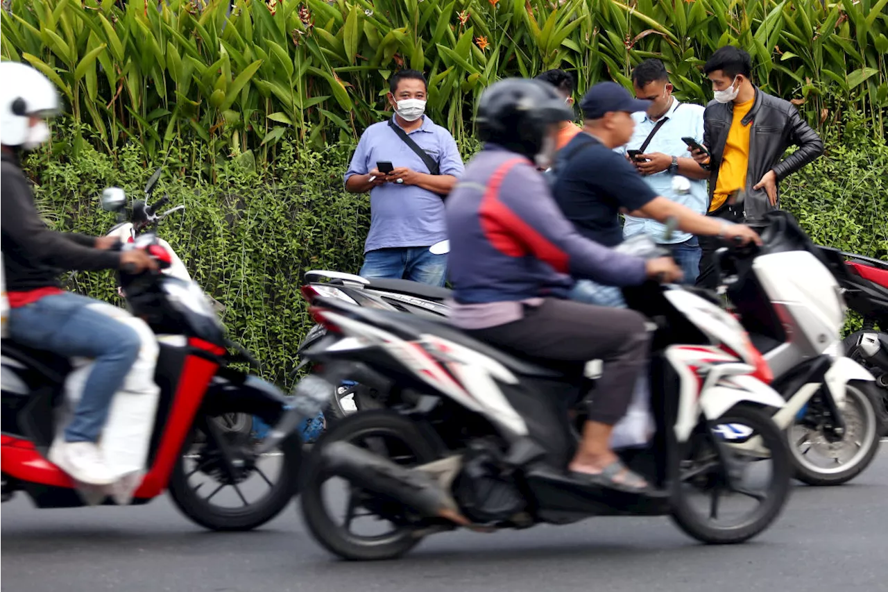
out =
<svg viewBox="0 0 888 592"><path fill-rule="evenodd" d="M753 428L762 438L770 452L773 463L771 483L765 493L764 508L757 515L743 523L728 527L718 527L711 520L704 520L694 511L688 497L684 495L680 483L675 484L672 494L672 521L682 531L701 542L714 545L730 545L745 542L763 532L780 516L789 499L792 464L786 436L773 422L765 410L749 404L739 404L718 418L718 424L738 423Z"/></svg>

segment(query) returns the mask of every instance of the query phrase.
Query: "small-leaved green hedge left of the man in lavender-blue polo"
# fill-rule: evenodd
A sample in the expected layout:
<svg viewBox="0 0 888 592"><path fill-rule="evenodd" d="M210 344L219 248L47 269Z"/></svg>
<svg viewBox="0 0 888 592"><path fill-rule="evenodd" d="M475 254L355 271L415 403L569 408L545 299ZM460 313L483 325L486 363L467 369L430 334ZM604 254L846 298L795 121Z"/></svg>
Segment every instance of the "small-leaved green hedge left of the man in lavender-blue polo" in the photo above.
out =
<svg viewBox="0 0 888 592"><path fill-rule="evenodd" d="M299 289L305 271L330 268L356 273L369 225L367 196L345 193L342 172L351 148L323 153L281 143L278 179L259 177L237 164L218 171L210 185L194 172L166 172L156 195L185 204L158 233L170 242L194 280L226 306L222 316L232 339L267 364L267 378L284 382L308 315ZM60 163L44 155L28 161L37 174L37 196L56 212L58 229L101 235L115 223L99 208L99 194L120 186L138 198L151 168L137 144L110 157L86 147ZM178 216L178 217L177 217ZM72 288L115 301L110 273L79 274Z"/></svg>

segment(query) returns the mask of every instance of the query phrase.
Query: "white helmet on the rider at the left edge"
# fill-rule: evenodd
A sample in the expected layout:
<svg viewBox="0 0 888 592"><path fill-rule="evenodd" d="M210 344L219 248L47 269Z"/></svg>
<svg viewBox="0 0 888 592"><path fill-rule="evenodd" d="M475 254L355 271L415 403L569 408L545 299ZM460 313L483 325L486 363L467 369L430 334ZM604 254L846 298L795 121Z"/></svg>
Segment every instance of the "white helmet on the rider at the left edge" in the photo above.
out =
<svg viewBox="0 0 888 592"><path fill-rule="evenodd" d="M30 125L31 116L55 115L59 93L50 79L17 61L0 61L0 144L33 150L50 139L46 122Z"/></svg>

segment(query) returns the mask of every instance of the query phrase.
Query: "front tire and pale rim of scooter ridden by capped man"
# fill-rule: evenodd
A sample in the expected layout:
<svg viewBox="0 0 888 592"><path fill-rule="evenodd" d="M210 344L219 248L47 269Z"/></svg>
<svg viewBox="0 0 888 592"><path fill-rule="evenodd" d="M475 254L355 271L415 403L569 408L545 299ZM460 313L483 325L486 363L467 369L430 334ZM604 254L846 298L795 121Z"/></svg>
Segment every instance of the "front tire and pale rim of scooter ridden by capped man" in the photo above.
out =
<svg viewBox="0 0 888 592"><path fill-rule="evenodd" d="M851 433L845 434L842 442L846 445L855 445L851 441L860 442L860 450L848 463L836 468L820 468L813 465L805 457L805 453L799 452L798 445L793 442L792 429L786 431L787 444L793 462L796 478L809 485L841 485L848 483L854 477L860 475L876 458L879 443L882 440L882 424L879 419L880 410L884 409L882 396L877 392L877 387L872 382L852 381L848 383L845 392L845 409L849 404L854 404L862 414L863 435ZM847 441L847 443L845 442Z"/></svg>

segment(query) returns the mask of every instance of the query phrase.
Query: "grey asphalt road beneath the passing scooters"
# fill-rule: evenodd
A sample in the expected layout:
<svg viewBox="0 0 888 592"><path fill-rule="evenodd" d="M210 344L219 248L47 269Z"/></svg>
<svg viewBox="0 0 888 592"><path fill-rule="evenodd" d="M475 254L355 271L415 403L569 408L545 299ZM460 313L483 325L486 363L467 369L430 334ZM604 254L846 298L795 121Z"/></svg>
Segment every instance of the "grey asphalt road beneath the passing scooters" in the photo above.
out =
<svg viewBox="0 0 888 592"><path fill-rule="evenodd" d="M888 445L888 444L885 444ZM404 559L328 556L288 508L258 532L214 533L166 499L140 508L0 507L3 592L875 592L886 588L888 449L852 484L799 485L756 540L705 547L666 518L599 518L432 537Z"/></svg>

